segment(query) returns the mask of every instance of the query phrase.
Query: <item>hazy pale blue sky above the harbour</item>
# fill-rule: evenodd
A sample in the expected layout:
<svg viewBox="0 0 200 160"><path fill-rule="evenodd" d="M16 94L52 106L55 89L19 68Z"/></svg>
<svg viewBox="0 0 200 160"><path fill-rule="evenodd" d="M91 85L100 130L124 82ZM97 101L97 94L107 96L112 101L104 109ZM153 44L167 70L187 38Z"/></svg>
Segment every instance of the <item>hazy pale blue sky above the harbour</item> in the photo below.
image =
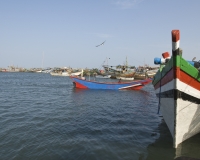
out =
<svg viewBox="0 0 200 160"><path fill-rule="evenodd" d="M200 60L200 0L1 0L0 68L155 66L174 29Z"/></svg>

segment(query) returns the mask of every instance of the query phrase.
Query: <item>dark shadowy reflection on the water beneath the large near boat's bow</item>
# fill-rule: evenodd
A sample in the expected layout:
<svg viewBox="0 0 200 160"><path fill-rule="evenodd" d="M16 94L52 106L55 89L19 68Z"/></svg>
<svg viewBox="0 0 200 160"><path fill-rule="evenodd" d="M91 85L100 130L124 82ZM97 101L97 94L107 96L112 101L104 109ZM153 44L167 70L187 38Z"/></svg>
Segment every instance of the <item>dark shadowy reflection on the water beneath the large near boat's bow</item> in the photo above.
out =
<svg viewBox="0 0 200 160"><path fill-rule="evenodd" d="M163 119L156 132L160 136L147 147L146 160L200 160L200 134L189 138L175 149L172 136Z"/></svg>

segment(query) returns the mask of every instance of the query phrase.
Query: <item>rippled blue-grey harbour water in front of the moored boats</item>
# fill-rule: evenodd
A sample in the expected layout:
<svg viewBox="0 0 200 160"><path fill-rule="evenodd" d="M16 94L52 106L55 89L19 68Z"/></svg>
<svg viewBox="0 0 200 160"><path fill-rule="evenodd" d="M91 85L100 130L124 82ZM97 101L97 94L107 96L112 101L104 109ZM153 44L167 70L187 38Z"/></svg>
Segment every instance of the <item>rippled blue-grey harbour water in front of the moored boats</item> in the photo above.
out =
<svg viewBox="0 0 200 160"><path fill-rule="evenodd" d="M69 77L0 73L0 159L173 160L200 157L200 135L172 147L152 85L81 90Z"/></svg>

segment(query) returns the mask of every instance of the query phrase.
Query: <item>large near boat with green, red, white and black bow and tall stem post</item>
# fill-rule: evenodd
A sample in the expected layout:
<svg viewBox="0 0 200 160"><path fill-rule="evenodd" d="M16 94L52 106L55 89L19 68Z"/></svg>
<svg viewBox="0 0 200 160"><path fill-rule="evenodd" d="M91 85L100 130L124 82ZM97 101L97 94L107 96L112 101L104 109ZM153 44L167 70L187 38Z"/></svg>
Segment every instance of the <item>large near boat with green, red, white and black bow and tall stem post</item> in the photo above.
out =
<svg viewBox="0 0 200 160"><path fill-rule="evenodd" d="M172 30L172 57L154 59L160 68L152 81L175 148L200 132L200 61L185 60L179 43L180 31Z"/></svg>

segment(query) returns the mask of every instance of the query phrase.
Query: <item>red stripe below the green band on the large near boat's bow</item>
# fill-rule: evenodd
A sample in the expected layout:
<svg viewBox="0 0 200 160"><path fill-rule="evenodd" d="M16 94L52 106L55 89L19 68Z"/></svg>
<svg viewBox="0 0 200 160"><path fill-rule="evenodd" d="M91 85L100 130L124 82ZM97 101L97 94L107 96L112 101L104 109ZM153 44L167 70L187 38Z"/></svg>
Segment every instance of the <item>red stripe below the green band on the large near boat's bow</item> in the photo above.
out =
<svg viewBox="0 0 200 160"><path fill-rule="evenodd" d="M155 89L158 89L160 86L163 86L167 83L169 83L170 81L172 81L175 78L178 78L180 81L182 81L183 83L197 89L200 90L200 82L197 81L196 79L194 79L193 77L191 77L190 75L188 75L187 73L183 72L182 70L180 70L180 68L175 68L175 72L176 72L176 76L173 75L173 69L171 69L161 80L161 84L160 81L154 86Z"/></svg>

